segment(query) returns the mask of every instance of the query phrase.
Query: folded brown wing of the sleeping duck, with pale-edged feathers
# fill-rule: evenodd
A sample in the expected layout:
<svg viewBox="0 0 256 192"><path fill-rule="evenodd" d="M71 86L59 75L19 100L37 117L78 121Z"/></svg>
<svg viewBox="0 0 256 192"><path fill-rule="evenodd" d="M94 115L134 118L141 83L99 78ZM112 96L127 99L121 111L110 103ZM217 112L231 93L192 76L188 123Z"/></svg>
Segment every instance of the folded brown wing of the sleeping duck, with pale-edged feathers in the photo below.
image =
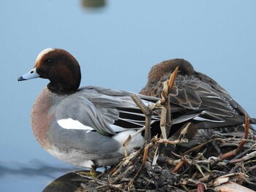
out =
<svg viewBox="0 0 256 192"><path fill-rule="evenodd" d="M217 82L205 74L178 75L170 93L171 104L184 107L177 122L195 120L201 128L244 123L246 111Z"/></svg>

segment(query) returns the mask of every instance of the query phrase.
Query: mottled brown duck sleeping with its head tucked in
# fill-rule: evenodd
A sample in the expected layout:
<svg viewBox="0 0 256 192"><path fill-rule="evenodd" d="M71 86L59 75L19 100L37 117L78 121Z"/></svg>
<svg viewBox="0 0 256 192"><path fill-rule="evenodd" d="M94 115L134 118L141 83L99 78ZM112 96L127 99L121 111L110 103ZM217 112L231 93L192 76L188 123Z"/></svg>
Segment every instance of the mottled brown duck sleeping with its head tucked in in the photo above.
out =
<svg viewBox="0 0 256 192"><path fill-rule="evenodd" d="M209 139L216 131L235 131L245 123L246 110L215 80L206 74L196 72L192 64L183 58L162 61L151 67L146 85L140 94L161 98L163 82L178 66L178 74L170 91L170 109L173 126L170 135L179 133L185 123L190 122L187 138ZM179 110L177 110L179 107ZM255 119L249 118L251 124ZM177 126L178 125L178 126ZM252 131L255 129L250 126Z"/></svg>

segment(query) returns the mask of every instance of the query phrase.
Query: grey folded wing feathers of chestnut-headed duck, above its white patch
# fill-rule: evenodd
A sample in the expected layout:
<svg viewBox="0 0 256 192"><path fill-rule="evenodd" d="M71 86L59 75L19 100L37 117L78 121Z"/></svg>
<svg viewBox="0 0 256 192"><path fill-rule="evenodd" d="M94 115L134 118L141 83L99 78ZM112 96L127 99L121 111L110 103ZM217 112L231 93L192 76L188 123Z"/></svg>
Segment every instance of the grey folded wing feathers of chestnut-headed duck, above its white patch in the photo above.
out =
<svg viewBox="0 0 256 192"><path fill-rule="evenodd" d="M77 93L61 101L59 107L56 108L56 118L72 118L83 123L85 126L94 128L101 134L116 134L109 124L113 124L116 120L120 119L120 113L126 113L138 118L145 117L134 101L132 101L130 94L132 93L127 91L114 91L91 86L80 88ZM142 97L153 101L159 100L154 97ZM145 103L149 104L151 101L145 101ZM132 113L129 111L132 109L136 110L136 112ZM145 121L121 120L138 125L138 127L145 124ZM159 120L159 118L156 117L156 120Z"/></svg>

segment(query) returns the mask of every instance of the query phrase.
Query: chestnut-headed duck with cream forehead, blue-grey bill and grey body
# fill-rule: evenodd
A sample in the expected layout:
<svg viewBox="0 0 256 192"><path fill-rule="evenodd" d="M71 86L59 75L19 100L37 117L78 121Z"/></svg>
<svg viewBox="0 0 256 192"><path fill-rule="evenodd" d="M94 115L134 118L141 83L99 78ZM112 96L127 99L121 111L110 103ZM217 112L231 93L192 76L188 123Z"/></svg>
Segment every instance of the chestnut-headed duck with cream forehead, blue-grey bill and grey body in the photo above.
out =
<svg viewBox="0 0 256 192"><path fill-rule="evenodd" d="M67 50L47 48L18 81L34 78L50 82L31 109L31 127L39 145L50 155L74 166L110 166L144 142L145 115L128 91L85 86L80 88L80 65ZM146 105L157 98L139 95ZM157 125L153 116L151 126ZM136 134L137 133L137 134Z"/></svg>

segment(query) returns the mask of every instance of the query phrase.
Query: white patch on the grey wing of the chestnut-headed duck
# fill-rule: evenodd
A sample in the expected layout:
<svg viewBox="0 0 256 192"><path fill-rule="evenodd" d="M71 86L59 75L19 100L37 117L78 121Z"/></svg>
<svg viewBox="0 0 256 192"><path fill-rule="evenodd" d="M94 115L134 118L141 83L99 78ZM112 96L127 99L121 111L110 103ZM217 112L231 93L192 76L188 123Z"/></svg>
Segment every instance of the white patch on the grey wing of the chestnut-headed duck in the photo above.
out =
<svg viewBox="0 0 256 192"><path fill-rule="evenodd" d="M60 119L60 120L57 120L57 123L62 128L80 129L80 130L86 131L86 133L90 132L91 130L94 130L94 128L91 128L90 126L85 126L83 125L83 123L80 123L78 120L73 120L72 118Z"/></svg>

